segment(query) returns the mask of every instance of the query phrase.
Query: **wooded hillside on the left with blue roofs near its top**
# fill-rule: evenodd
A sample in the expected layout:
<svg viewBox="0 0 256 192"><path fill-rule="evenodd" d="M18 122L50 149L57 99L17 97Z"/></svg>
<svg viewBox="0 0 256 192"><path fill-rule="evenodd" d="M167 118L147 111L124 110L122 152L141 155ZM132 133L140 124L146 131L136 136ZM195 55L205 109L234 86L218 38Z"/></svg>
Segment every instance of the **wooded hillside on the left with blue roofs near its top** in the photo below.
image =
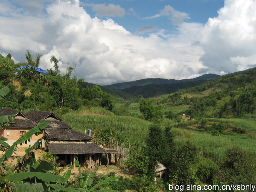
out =
<svg viewBox="0 0 256 192"><path fill-rule="evenodd" d="M111 110L114 97L102 92L98 86L80 86L84 79L72 76L72 67L60 75L58 60L52 56L54 69L38 68L40 55L35 61L27 51L26 62L14 64L11 55L0 55L0 88L9 87L10 92L0 101L0 107L10 109L39 109L56 113L76 110L81 106L102 106Z"/></svg>

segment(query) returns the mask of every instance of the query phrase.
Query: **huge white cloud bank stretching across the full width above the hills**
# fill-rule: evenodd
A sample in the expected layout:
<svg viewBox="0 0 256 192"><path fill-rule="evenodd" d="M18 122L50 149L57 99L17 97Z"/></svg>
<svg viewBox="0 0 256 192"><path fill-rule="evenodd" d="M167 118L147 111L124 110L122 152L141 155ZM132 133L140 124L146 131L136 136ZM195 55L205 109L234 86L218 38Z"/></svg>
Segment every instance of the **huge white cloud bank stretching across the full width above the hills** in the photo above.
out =
<svg viewBox="0 0 256 192"><path fill-rule="evenodd" d="M226 0L219 16L206 24L182 19L175 34L160 29L147 37L130 33L112 19L91 18L79 0L48 4L40 17L23 14L24 10L3 1L14 14L0 6L0 25L5 26L0 30L1 53L11 53L20 61L26 50L42 54L43 69L53 67L54 55L62 73L68 66L76 67L75 75L87 82L185 79L243 70L256 63L255 0ZM171 10L167 7L160 14L174 18Z"/></svg>

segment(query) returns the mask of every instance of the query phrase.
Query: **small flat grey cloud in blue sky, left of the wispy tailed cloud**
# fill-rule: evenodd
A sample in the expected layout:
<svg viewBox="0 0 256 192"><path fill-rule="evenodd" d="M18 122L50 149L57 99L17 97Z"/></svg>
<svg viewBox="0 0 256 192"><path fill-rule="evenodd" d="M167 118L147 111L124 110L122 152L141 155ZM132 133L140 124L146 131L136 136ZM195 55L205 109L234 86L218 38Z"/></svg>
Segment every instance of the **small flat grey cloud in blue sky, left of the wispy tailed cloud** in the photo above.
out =
<svg viewBox="0 0 256 192"><path fill-rule="evenodd" d="M115 4L93 4L92 10L96 11L96 16L104 17L123 17L125 15L124 8L120 7L119 5Z"/></svg>

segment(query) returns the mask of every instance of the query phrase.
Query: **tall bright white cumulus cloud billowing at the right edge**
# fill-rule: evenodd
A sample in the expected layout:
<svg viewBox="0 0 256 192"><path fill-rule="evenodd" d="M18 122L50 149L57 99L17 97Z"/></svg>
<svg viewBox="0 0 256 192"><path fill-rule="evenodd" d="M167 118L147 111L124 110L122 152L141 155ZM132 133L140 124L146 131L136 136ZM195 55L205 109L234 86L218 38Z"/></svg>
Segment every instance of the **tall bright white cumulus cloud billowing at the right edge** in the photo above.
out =
<svg viewBox="0 0 256 192"><path fill-rule="evenodd" d="M256 1L225 0L201 31L201 62L211 71L234 72L256 63Z"/></svg>

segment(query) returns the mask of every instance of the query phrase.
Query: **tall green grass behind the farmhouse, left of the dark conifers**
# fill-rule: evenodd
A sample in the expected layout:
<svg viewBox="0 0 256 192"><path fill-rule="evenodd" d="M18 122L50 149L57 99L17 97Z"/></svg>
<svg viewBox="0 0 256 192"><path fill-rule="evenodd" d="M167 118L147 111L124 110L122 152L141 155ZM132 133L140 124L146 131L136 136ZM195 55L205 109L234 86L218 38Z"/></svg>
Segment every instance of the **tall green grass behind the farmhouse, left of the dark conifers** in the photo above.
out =
<svg viewBox="0 0 256 192"><path fill-rule="evenodd" d="M129 140L145 141L150 122L128 116L115 115L73 115L71 113L62 116L63 121L72 126L73 129L85 132L85 129L99 130L101 128L114 128Z"/></svg>

